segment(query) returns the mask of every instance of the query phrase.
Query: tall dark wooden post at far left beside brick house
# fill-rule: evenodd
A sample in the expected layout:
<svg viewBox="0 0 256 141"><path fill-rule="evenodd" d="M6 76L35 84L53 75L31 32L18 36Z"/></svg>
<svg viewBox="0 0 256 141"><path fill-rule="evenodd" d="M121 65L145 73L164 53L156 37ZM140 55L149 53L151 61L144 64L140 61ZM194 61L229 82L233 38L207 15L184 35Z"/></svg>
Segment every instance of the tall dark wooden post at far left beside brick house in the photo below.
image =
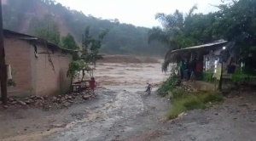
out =
<svg viewBox="0 0 256 141"><path fill-rule="evenodd" d="M3 104L7 104L7 68L5 65L5 53L3 44L3 14L2 0L0 0L0 81Z"/></svg>

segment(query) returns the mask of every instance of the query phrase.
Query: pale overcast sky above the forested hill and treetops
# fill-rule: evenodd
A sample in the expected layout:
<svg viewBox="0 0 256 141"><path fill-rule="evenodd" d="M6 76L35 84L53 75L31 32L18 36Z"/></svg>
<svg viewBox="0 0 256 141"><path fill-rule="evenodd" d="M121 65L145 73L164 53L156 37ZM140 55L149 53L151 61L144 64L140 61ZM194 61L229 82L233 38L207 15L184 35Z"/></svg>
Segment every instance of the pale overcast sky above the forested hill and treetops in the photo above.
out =
<svg viewBox="0 0 256 141"><path fill-rule="evenodd" d="M216 10L220 0L56 0L64 6L92 14L102 19L119 19L121 23L137 26L152 27L160 25L154 20L156 13L170 14L175 9L184 13L194 4L198 5L197 12L208 13Z"/></svg>

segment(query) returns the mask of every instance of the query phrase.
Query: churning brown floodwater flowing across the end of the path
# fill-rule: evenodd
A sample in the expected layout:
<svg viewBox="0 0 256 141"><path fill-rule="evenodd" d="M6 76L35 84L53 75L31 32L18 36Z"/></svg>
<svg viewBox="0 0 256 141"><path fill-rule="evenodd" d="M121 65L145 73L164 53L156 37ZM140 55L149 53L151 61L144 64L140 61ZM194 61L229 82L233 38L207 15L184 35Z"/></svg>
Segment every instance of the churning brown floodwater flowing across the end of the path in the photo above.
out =
<svg viewBox="0 0 256 141"><path fill-rule="evenodd" d="M103 87L146 87L146 83L154 85L165 80L168 73L162 73L161 64L113 64L96 65L94 71L96 81Z"/></svg>

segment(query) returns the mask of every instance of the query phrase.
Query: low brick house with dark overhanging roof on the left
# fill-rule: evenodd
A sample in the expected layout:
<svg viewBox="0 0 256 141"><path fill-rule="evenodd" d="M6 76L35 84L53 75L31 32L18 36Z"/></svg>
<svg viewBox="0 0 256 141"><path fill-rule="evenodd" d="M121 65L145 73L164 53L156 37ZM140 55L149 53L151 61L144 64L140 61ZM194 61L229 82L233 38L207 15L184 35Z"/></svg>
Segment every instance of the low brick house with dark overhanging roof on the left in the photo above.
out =
<svg viewBox="0 0 256 141"><path fill-rule="evenodd" d="M67 69L73 51L15 31L4 30L3 34L6 65L10 65L16 84L8 87L9 96L45 96L68 91Z"/></svg>

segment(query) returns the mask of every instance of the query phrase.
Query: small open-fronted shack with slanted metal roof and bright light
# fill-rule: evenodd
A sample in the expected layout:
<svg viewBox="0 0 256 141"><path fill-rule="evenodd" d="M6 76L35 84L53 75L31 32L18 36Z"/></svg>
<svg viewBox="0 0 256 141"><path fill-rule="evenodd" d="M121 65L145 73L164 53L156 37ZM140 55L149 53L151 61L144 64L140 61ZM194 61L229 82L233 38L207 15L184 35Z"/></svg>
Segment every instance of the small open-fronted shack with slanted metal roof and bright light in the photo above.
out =
<svg viewBox="0 0 256 141"><path fill-rule="evenodd" d="M226 50L225 50L226 49ZM230 48L230 42L224 40L218 40L215 42L210 42L207 44L202 44L195 47L182 48L173 50L169 53L170 60L172 63L178 63L181 59L197 59L197 63L200 63L203 67L201 68L201 73L204 71L212 72L212 75L217 73L218 65L220 59L223 59L223 53L227 53L225 55L226 59L223 63L223 73L233 73L234 67L232 67L232 71L230 72L230 65L236 68L236 57L235 52L232 48ZM238 67L237 67L238 68ZM210 75L210 77L212 76ZM213 75L214 76L214 75Z"/></svg>

